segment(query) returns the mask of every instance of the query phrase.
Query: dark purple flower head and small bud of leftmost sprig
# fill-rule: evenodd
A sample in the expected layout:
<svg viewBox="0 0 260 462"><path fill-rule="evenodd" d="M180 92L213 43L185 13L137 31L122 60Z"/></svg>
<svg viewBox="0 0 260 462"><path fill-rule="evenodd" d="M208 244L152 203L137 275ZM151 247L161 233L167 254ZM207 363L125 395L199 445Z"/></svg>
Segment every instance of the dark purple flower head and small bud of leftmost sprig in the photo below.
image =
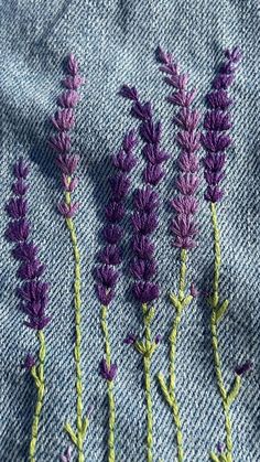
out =
<svg viewBox="0 0 260 462"><path fill-rule="evenodd" d="M24 182L28 173L29 168L20 159L13 168L15 182L13 183L14 187L12 185L12 191L15 196L11 197L6 206L11 218L6 235L9 240L15 243L12 255L20 262L17 276L23 280L23 284L18 288L17 293L21 300L20 308L28 316L24 324L30 329L41 331L51 321L51 318L45 314L50 286L40 281L45 266L36 257L39 248L29 240L31 227L26 219L28 201L25 192L28 186ZM17 187L18 182L21 181L23 182L22 187ZM29 364L32 363L30 361L31 356L28 356L24 367L29 368Z"/></svg>

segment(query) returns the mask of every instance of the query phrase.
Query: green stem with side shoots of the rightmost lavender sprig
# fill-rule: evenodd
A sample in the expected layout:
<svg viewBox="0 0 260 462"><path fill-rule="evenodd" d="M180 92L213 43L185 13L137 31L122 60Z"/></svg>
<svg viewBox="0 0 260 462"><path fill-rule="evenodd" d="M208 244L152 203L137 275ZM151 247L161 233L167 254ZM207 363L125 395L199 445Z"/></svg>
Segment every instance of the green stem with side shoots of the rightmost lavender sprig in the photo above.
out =
<svg viewBox="0 0 260 462"><path fill-rule="evenodd" d="M225 416L225 430L226 430L226 453L216 455L214 452L210 452L209 456L215 462L232 462L232 427L230 419L230 406L238 397L240 387L241 387L241 377L236 375L234 384L230 388L230 391L227 391L223 372L221 363L219 356L219 345L218 345L218 334L217 327L218 323L226 313L228 309L228 300L225 300L219 304L219 276L220 276L220 266L221 266L221 253L220 253L220 233L218 228L217 221L217 209L216 204L210 204L212 211L212 224L214 230L214 253L215 253L215 262L214 262L214 281L213 281L213 296L209 298L208 303L212 308L212 318L210 318L210 330L212 330L212 343L213 343L213 353L214 353L214 364L215 373L217 378L217 385L219 395L221 398L221 405Z"/></svg>

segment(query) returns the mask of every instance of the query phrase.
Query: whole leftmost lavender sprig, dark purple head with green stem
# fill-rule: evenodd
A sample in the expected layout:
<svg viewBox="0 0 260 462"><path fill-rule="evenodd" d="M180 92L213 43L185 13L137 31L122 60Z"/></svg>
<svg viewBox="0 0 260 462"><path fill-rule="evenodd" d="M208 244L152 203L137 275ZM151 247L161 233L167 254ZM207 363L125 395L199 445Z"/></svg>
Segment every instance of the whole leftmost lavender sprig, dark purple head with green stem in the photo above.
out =
<svg viewBox="0 0 260 462"><path fill-rule="evenodd" d="M20 310L26 316L24 325L35 331L40 345L37 358L28 354L22 365L31 373L37 390L29 448L29 460L35 462L39 425L45 396L46 346L43 329L51 322L51 318L46 314L50 286L41 281L45 266L39 259L39 247L30 239L31 226L28 221L26 200L29 168L22 158L14 164L13 175L15 178L12 184L13 196L6 207L11 221L6 235L14 244L12 255L20 264L17 277L21 283L19 283L17 294L20 299Z"/></svg>

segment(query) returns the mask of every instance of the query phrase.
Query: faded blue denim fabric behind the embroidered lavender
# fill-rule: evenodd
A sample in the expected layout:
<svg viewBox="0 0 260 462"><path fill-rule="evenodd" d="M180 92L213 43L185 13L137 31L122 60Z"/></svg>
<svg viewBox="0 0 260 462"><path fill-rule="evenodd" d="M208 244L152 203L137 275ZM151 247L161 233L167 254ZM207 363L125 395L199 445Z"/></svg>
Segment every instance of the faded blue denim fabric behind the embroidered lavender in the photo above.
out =
<svg viewBox="0 0 260 462"><path fill-rule="evenodd" d="M7 216L3 204L10 196L11 166L19 155L30 161L30 219L33 238L41 245L52 284L46 330L47 395L41 421L39 462L58 460L68 444L64 421L75 418L73 363L74 310L73 260L68 234L56 212L61 200L58 171L46 146L48 116L55 110L63 75L61 63L74 52L87 84L77 107L76 149L82 153L80 184L75 194L82 203L76 218L83 258L83 369L85 409L94 404L86 439L87 462L106 460L107 397L98 375L102 356L99 304L93 267L100 246L98 229L107 201L110 154L120 146L124 131L136 122L129 104L117 95L122 83L136 85L143 100L154 101L164 122L164 146L172 153L167 176L161 185L163 206L156 239L162 297L156 305L153 332L163 334L154 355L153 374L167 370L167 334L173 311L166 293L176 289L178 251L171 247L167 201L174 194L173 178L178 150L173 143L173 108L154 61L160 43L173 52L191 85L198 89L197 104L204 110L204 95L221 61L223 50L235 44L243 51L232 94L235 144L228 154L227 195L219 206L223 238L221 294L230 308L220 327L225 379L231 383L234 367L254 358L254 372L245 378L242 391L231 408L236 462L257 462L259 450L259 4L257 0L30 0L1 1L1 200L0 207L0 351L1 351L1 461L25 461L31 429L33 382L20 364L36 346L34 335L23 326L14 296L17 264L3 237ZM141 143L138 153L140 154ZM203 153L201 152L201 155ZM140 157L141 159L141 157ZM140 184L142 161L134 174ZM204 184L202 182L201 197ZM213 275L213 241L207 204L198 214L199 247L191 254L189 282L207 290ZM129 228L124 253L129 258ZM141 357L122 345L129 331L141 332L139 305L129 293L127 265L109 313L112 356L119 365L116 382L118 461L145 460L145 408ZM127 290L126 290L127 289ZM216 388L209 335L209 310L203 299L186 310L177 346L176 393L181 405L186 461L207 460L208 451L224 438L224 420ZM154 461L172 462L175 438L172 416L155 379Z"/></svg>

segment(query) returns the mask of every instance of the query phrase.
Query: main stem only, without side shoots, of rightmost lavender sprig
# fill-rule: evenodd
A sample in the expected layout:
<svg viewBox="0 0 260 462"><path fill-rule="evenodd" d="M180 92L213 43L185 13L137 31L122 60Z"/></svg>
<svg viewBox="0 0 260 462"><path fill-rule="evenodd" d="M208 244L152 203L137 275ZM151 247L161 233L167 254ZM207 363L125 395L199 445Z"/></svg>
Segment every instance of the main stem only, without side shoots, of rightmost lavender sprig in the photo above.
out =
<svg viewBox="0 0 260 462"><path fill-rule="evenodd" d="M232 462L232 436L231 436L231 420L230 420L230 405L227 401L227 390L224 385L221 363L219 356L219 346L218 346L218 335L217 335L217 318L216 310L218 308L219 301L219 275L220 275L220 265L221 265L221 251L220 251L220 234L218 228L217 221L217 211L214 203L210 204L212 209L212 224L214 230L214 282L213 282L213 299L212 299L212 342L213 342L213 353L214 353L214 364L215 373L217 377L218 390L221 397L221 405L225 416L225 428L226 428L226 458L227 462Z"/></svg>

